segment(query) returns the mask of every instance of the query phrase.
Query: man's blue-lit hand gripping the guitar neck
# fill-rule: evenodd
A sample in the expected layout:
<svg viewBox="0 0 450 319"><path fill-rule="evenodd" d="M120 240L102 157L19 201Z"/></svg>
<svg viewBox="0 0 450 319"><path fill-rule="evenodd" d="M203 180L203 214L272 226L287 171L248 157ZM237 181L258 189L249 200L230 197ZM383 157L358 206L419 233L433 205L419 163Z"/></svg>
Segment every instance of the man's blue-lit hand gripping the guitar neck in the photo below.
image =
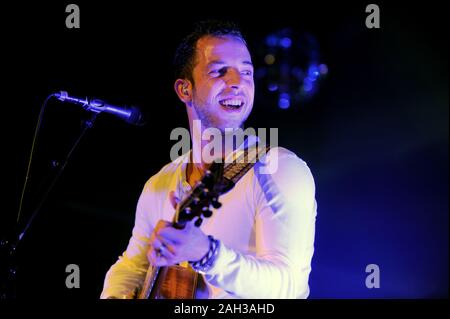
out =
<svg viewBox="0 0 450 319"><path fill-rule="evenodd" d="M169 199L176 207L178 201L173 192ZM183 261L197 261L205 256L209 250L209 239L194 222L187 223L184 229L176 229L172 223L160 220L150 236L147 254L150 264L170 266Z"/></svg>

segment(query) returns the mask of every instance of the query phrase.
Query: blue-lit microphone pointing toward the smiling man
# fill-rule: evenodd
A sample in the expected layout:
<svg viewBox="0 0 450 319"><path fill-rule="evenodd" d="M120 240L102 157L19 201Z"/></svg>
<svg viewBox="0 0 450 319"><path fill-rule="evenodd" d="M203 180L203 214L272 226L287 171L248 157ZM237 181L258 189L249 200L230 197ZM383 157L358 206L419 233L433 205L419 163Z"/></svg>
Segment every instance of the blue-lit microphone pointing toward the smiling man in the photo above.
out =
<svg viewBox="0 0 450 319"><path fill-rule="evenodd" d="M62 102L81 105L86 111L91 111L94 113L110 113L133 125L141 126L145 124L142 113L136 106L116 106L99 99L88 99L87 97L78 98L69 96L69 94L65 91L55 93L53 96Z"/></svg>

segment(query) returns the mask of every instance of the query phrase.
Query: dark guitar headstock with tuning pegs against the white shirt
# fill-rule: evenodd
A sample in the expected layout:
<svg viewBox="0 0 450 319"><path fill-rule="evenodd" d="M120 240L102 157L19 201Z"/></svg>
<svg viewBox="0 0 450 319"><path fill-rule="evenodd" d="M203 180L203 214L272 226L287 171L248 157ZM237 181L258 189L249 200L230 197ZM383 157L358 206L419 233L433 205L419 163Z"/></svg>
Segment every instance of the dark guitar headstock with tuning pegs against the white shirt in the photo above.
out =
<svg viewBox="0 0 450 319"><path fill-rule="evenodd" d="M212 208L222 206L220 195L234 187L233 182L223 177L223 168L223 163L214 162L189 196L179 204L174 223L177 228L183 228L196 217L195 226L200 227L204 218L212 216Z"/></svg>

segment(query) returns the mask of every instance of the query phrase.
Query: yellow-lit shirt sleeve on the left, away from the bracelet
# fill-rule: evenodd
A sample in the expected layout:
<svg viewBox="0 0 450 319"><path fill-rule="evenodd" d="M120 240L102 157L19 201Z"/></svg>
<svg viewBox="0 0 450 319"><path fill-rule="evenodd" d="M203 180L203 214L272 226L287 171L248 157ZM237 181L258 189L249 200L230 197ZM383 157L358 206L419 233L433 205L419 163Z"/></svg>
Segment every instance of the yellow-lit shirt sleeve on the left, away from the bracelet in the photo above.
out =
<svg viewBox="0 0 450 319"><path fill-rule="evenodd" d="M139 197L135 224L128 247L106 274L103 291L100 295L102 299L111 297L130 299L142 287L149 267L147 251L149 236L153 230L153 225L148 218L148 205L153 199L151 181L152 179L145 184Z"/></svg>

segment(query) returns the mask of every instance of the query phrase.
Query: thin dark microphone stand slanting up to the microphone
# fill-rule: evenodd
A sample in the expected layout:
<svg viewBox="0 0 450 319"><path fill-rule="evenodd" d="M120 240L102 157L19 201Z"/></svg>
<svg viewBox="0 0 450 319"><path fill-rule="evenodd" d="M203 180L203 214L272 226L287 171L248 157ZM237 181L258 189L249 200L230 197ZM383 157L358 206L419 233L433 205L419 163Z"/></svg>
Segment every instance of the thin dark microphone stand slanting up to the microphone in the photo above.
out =
<svg viewBox="0 0 450 319"><path fill-rule="evenodd" d="M67 165L67 162L69 161L70 157L72 156L72 153L74 152L75 148L78 146L78 144L81 141L81 138L85 135L88 129L92 128L94 125L94 122L97 118L99 113L92 113L91 117L87 120L83 121L83 129L80 132L78 138L75 140L74 144L72 145L69 153L67 154L64 162L62 165L58 166L56 175L53 177L52 182L49 184L45 192L43 193L43 196L41 200L39 201L37 207L34 209L30 219L27 221L25 227L19 234L14 235L14 239L12 241L8 240L2 240L0 241L0 250L1 255L5 255L6 263L2 265L1 273L6 272L6 278L1 278L0 276L0 299L12 299L16 297L16 291L15 291L15 283L16 283L16 254L17 254L17 247L19 246L20 242L23 240L23 237L25 236L27 230L30 228L33 220L37 216L37 214L40 212L40 209L42 208L42 205L47 200L50 192L54 188L56 182L58 181L59 177L61 176L62 172L64 171L64 168ZM3 259L3 258L2 258ZM4 282L3 282L4 281Z"/></svg>

